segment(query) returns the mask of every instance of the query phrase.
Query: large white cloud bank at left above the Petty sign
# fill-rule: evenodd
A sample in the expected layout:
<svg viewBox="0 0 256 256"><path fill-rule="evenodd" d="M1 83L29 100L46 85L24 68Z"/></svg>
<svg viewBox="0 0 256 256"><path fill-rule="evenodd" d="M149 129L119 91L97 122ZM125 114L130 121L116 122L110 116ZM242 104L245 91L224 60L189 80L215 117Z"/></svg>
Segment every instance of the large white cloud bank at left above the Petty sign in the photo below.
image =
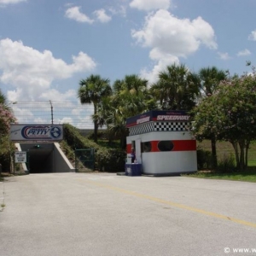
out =
<svg viewBox="0 0 256 256"><path fill-rule="evenodd" d="M9 38L0 41L0 82L15 87L7 92L10 101L71 98L75 95L73 90L61 94L50 88L51 83L95 67L96 62L83 52L73 56L72 64L67 64L55 59L49 50L40 52Z"/></svg>

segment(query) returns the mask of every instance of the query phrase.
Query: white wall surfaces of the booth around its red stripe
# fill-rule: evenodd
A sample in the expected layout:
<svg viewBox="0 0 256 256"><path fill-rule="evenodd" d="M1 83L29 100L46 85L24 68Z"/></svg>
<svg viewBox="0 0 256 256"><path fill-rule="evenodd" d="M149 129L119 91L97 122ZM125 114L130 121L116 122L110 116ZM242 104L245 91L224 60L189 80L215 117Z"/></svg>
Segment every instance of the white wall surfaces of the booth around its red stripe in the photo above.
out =
<svg viewBox="0 0 256 256"><path fill-rule="evenodd" d="M127 148L131 148L131 143L135 142L137 163L142 164L143 173L151 175L168 175L197 171L196 148L195 150L182 151L176 151L173 148L173 151L141 152L141 143L183 140L193 140L195 142L195 138L192 137L189 131L153 131L126 138ZM127 163L130 160L130 154L127 154Z"/></svg>

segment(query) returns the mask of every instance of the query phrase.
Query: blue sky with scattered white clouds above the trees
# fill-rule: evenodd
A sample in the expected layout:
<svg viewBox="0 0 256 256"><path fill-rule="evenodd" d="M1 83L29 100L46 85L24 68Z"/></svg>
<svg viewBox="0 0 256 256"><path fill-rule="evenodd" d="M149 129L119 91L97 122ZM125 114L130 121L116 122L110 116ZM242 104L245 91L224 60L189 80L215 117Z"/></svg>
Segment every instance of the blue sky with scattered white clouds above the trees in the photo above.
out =
<svg viewBox="0 0 256 256"><path fill-rule="evenodd" d="M90 74L157 80L173 63L255 64L255 0L0 0L0 89L11 102L79 101Z"/></svg>

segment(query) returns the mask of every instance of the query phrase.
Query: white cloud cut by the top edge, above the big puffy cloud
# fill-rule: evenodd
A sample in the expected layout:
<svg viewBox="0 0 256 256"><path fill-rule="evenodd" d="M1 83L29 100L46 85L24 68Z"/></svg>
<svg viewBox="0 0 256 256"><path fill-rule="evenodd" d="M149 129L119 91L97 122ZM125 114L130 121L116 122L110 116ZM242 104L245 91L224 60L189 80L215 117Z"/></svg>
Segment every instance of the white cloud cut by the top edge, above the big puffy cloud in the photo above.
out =
<svg viewBox="0 0 256 256"><path fill-rule="evenodd" d="M131 8L139 10L169 9L171 0L132 0Z"/></svg>

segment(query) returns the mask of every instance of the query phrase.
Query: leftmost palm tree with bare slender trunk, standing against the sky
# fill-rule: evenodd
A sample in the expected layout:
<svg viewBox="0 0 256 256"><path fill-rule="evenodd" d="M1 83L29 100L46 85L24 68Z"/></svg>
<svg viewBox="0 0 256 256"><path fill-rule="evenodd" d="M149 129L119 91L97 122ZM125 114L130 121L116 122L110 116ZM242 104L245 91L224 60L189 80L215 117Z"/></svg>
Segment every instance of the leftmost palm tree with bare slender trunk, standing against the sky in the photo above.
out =
<svg viewBox="0 0 256 256"><path fill-rule="evenodd" d="M79 82L79 98L82 104L93 103L94 113L92 119L94 122L94 141L97 142L97 131L99 125L102 125L102 119L98 115L98 108L102 99L112 94L112 89L109 84L109 79L102 79L100 75L91 74L87 79L82 79Z"/></svg>

